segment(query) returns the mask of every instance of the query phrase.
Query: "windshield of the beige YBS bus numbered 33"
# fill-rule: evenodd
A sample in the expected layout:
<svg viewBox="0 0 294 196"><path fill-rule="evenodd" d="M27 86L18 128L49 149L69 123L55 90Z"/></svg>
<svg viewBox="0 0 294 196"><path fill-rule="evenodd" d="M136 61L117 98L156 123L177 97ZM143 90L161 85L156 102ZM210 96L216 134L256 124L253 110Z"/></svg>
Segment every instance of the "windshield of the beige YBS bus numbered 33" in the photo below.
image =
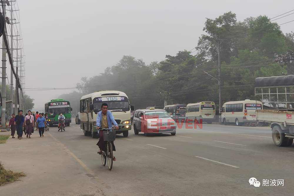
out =
<svg viewBox="0 0 294 196"><path fill-rule="evenodd" d="M108 110L129 111L130 104L126 97L97 97L93 100L94 111L101 111L102 103L107 103Z"/></svg>

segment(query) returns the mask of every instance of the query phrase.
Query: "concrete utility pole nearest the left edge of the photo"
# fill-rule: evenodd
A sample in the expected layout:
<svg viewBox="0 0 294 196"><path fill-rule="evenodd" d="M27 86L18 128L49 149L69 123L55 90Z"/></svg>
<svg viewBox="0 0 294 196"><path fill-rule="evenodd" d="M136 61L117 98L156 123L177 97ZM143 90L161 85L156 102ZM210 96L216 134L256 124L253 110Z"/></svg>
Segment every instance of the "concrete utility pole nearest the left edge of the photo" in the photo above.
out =
<svg viewBox="0 0 294 196"><path fill-rule="evenodd" d="M3 5L3 17L6 17L6 3ZM6 33L6 28L4 28L4 32ZM5 119L5 111L6 111L6 45L4 41L4 36L2 35L2 111L1 111L1 124L2 127L6 125Z"/></svg>

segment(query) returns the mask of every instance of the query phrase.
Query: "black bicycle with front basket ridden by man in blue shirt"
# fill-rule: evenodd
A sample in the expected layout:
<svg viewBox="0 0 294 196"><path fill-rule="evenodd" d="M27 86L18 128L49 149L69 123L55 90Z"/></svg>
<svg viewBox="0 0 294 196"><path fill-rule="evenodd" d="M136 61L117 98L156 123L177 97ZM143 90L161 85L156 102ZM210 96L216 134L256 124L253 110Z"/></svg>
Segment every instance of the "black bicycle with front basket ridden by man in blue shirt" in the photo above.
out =
<svg viewBox="0 0 294 196"><path fill-rule="evenodd" d="M115 131L111 131L112 128L99 128L99 130L106 130L103 131L103 140L107 141L106 143L106 152L102 151L101 153L101 160L102 160L102 165L105 166L106 165L106 159L107 159L107 165L108 165L108 169L111 170L112 169L112 165L113 165L113 151L112 151L112 141L115 140Z"/></svg>

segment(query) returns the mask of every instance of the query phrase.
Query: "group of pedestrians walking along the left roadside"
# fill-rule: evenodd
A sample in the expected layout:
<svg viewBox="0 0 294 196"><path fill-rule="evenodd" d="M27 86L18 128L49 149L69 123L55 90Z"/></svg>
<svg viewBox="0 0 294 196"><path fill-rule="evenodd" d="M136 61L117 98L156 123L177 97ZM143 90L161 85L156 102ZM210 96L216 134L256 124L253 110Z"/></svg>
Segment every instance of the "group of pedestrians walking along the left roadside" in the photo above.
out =
<svg viewBox="0 0 294 196"><path fill-rule="evenodd" d="M20 140L22 139L23 132L26 138L31 138L35 126L37 128L36 130L39 130L40 137L44 137L45 127L48 125L48 114L44 115L43 113L36 112L36 115L33 115L31 110L25 116L23 115L23 111L19 110L18 114L12 114L9 120L12 138L15 138L16 130L17 139Z"/></svg>

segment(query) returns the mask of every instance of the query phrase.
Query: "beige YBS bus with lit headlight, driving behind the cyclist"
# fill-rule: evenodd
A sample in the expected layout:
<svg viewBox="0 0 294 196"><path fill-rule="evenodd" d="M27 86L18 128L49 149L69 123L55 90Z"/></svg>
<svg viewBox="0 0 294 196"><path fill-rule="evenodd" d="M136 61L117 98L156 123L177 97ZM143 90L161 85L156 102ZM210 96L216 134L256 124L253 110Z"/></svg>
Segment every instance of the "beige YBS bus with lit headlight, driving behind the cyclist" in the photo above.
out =
<svg viewBox="0 0 294 196"><path fill-rule="evenodd" d="M111 111L119 126L116 134L123 133L124 137L128 137L128 131L131 130L131 109L133 110L133 106L130 105L126 93L121 91L96 91L81 97L80 126L84 135L97 138L96 119L97 113L101 111L102 103L108 104L108 110Z"/></svg>

